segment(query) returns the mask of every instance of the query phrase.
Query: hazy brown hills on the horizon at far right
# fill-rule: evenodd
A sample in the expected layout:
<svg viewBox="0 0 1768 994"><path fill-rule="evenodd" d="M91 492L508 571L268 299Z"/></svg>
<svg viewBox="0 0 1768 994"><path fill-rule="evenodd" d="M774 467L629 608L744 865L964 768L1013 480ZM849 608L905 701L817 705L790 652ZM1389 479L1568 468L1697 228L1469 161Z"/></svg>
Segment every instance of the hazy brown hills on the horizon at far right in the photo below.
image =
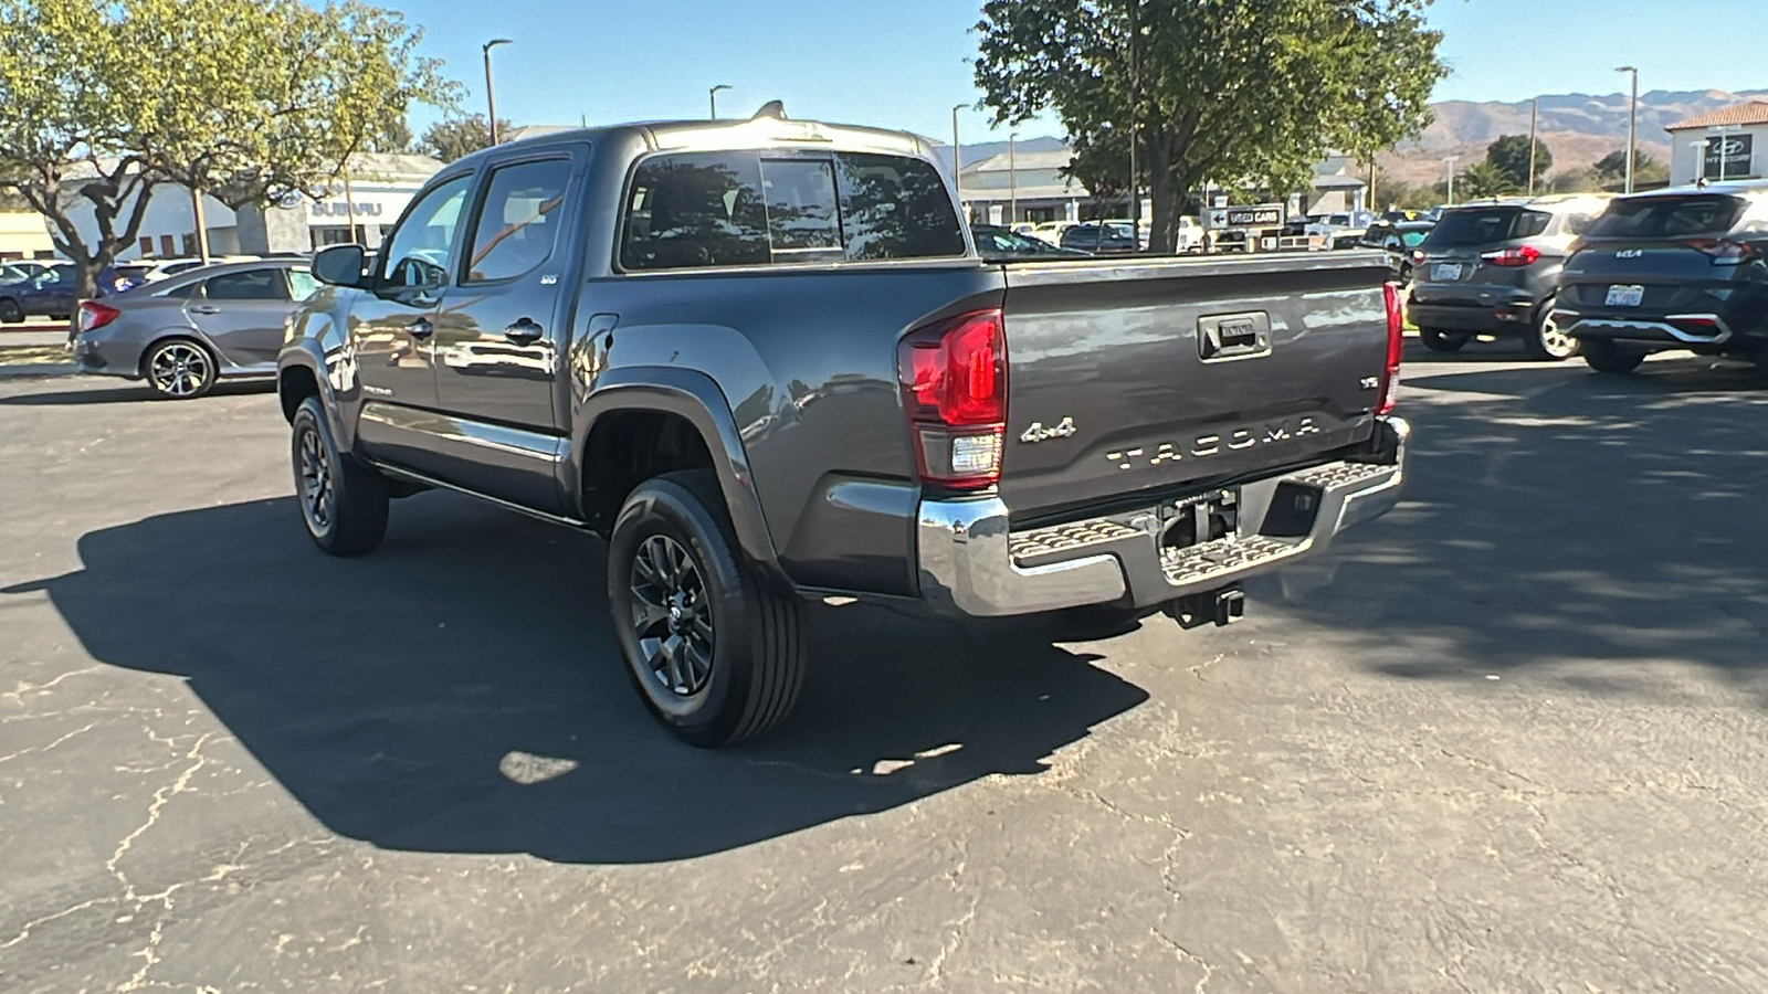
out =
<svg viewBox="0 0 1768 994"><path fill-rule="evenodd" d="M1665 124L1685 117L1768 96L1768 90L1651 90L1639 94L1639 150L1658 161L1669 159ZM1552 150L1552 172L1588 166L1627 147L1627 94L1561 94L1540 97L1538 134ZM1485 147L1499 134L1529 133L1529 104L1444 101L1430 104L1432 124L1416 141L1381 156L1381 170L1411 184L1443 179L1443 159L1459 156L1455 168L1485 157Z"/></svg>

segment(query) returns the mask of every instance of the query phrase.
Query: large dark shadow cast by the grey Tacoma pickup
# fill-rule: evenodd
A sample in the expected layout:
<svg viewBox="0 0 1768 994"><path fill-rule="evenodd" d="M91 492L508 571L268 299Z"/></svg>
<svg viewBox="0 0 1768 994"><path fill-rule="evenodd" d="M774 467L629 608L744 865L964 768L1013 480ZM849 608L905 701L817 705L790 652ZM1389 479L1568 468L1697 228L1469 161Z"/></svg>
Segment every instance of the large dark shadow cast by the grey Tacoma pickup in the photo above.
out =
<svg viewBox="0 0 1768 994"><path fill-rule="evenodd" d="M292 499L90 532L48 591L97 660L179 674L332 831L387 849L681 860L880 812L1054 750L1147 695L1047 638L849 607L810 616L797 716L677 743L608 630L601 543L451 493L364 559Z"/></svg>

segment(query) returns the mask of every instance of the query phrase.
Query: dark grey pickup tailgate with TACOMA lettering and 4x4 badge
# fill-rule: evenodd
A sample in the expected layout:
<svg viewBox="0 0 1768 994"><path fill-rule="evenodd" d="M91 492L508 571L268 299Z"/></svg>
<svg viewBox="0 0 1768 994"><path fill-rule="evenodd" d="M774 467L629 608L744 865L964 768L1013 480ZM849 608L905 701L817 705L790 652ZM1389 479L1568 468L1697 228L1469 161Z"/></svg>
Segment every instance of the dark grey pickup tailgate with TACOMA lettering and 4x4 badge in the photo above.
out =
<svg viewBox="0 0 1768 994"><path fill-rule="evenodd" d="M1386 278L1372 253L1006 265L1015 522L1367 440Z"/></svg>

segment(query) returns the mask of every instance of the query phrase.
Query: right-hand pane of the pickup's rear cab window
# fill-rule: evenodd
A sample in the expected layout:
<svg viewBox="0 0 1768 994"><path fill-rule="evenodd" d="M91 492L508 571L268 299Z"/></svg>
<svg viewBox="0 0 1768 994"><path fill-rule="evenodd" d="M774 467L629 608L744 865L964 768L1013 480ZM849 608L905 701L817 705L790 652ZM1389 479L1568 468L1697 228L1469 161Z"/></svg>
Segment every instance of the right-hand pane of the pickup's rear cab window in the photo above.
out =
<svg viewBox="0 0 1768 994"><path fill-rule="evenodd" d="M842 228L847 258L964 255L964 230L939 172L905 156L842 152Z"/></svg>

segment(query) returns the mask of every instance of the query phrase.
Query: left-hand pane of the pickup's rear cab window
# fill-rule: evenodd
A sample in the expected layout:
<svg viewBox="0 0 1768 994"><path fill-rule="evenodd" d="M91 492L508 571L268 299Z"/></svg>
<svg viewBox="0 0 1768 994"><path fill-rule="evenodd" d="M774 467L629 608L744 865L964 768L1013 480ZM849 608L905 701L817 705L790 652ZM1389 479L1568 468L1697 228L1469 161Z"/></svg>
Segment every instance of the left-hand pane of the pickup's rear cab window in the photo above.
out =
<svg viewBox="0 0 1768 994"><path fill-rule="evenodd" d="M633 173L621 267L767 265L760 161L743 152L647 159Z"/></svg>

